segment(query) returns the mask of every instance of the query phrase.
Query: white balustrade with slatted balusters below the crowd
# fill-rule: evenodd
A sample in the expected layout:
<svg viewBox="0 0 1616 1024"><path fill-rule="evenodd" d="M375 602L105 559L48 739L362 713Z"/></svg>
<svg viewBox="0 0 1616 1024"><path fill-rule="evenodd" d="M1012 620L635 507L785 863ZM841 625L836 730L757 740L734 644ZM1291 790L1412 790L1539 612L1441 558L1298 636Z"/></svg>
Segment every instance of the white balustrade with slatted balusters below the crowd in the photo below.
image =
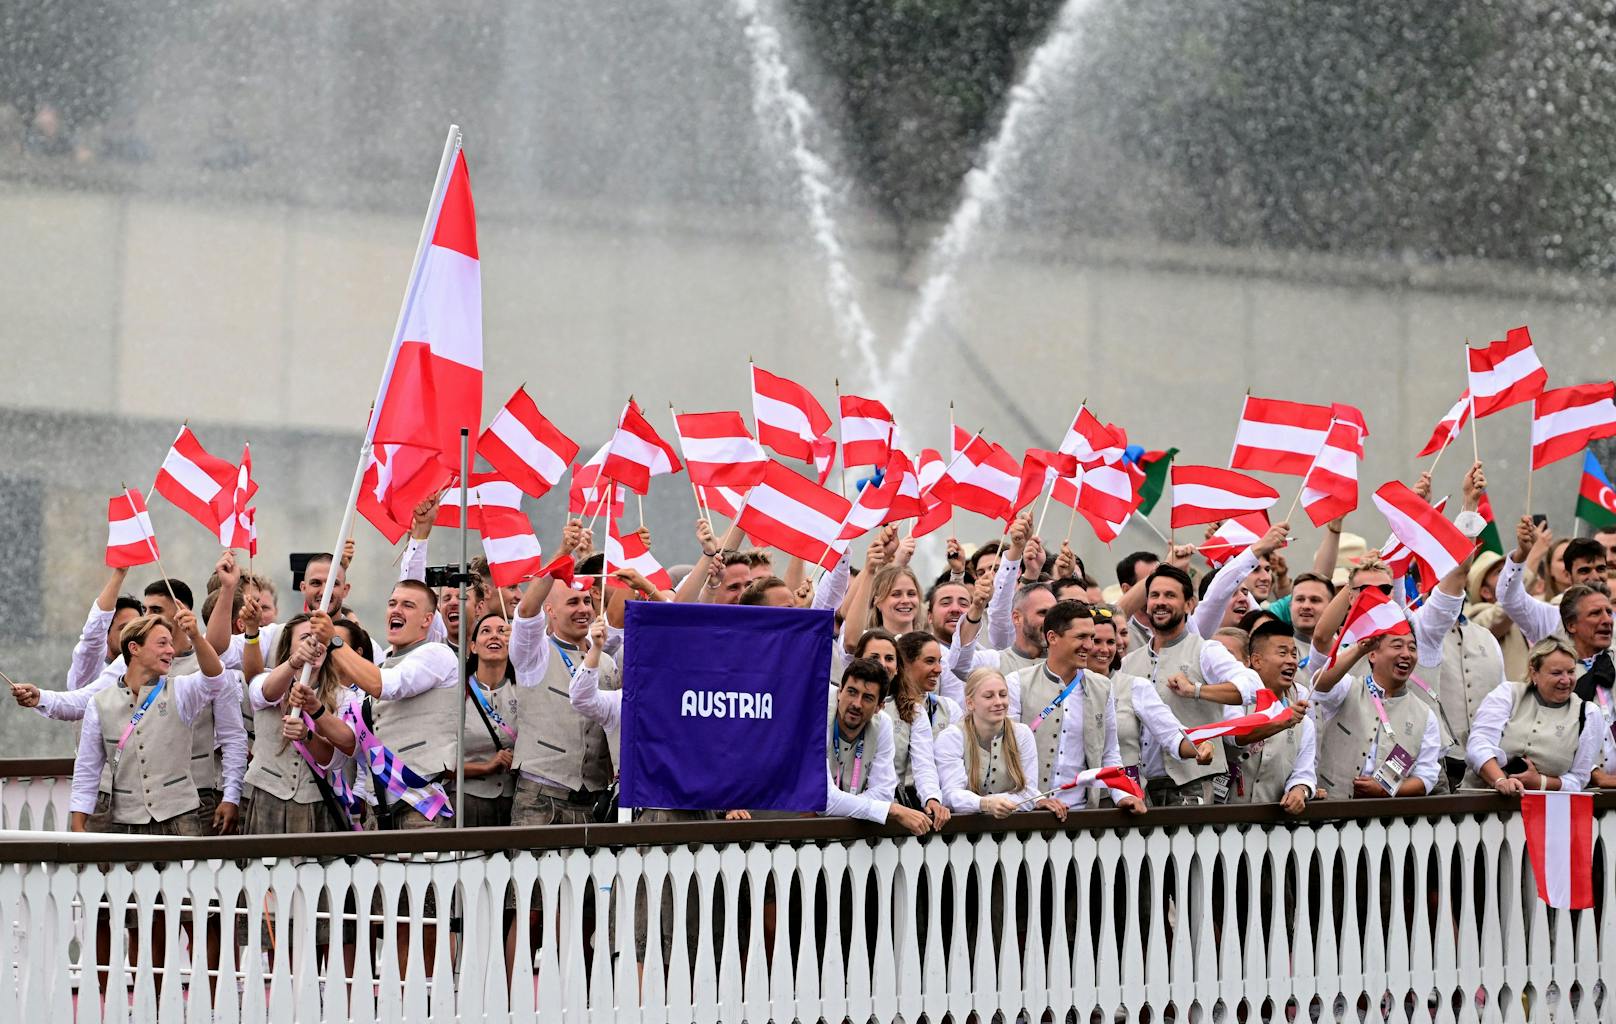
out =
<svg viewBox="0 0 1616 1024"><path fill-rule="evenodd" d="M29 1022L1616 1019L1616 811L1603 921L1545 908L1519 817L1487 812L166 864L21 841L0 1006ZM543 906L514 969L507 892ZM194 908L220 906L208 971Z"/></svg>

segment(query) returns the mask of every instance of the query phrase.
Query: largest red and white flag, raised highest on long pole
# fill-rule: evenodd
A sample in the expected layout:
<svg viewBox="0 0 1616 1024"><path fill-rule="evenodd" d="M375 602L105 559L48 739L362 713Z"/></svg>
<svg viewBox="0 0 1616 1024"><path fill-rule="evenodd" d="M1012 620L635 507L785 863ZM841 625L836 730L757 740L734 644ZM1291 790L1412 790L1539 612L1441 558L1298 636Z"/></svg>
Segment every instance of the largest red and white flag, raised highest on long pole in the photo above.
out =
<svg viewBox="0 0 1616 1024"><path fill-rule="evenodd" d="M431 244L406 291L370 439L430 451L456 473L461 430L477 436L483 412L483 284L464 152L454 153L443 197L433 199Z"/></svg>

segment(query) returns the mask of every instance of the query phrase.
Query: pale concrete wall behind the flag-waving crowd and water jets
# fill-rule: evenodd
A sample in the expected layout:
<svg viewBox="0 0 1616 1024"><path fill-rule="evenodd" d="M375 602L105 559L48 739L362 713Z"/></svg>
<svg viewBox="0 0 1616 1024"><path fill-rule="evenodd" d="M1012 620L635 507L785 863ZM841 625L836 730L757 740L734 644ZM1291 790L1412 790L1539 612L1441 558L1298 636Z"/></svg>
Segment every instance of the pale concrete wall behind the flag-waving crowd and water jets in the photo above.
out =
<svg viewBox="0 0 1616 1024"><path fill-rule="evenodd" d="M834 376L855 386L821 266L800 237L718 213L685 212L677 223L635 210L554 213L483 212L490 412L525 381L591 447L629 392L663 426L671 401L745 409L748 355L811 384L827 405ZM19 604L39 602L0 622L8 674L48 683L61 670L102 580L105 499L120 480L150 485L184 417L220 455L252 441L265 564L330 548L419 221L18 186L0 197L0 581ZM863 229L852 233L861 294L890 349L913 271L877 229ZM1362 407L1367 504L1369 489L1416 472L1411 454L1464 388L1466 338L1530 323L1558 381L1611 375L1601 283L1036 239L995 252L963 270L957 300L898 381L911 447L942 443L949 399L962 425L1021 447L1057 443L1088 397L1147 447L1223 462L1251 388ZM1527 420L1522 409L1482 423L1500 517L1521 507ZM1440 491L1456 489L1466 460L1467 451L1445 459ZM1535 481L1537 507L1561 525L1574 476L1568 460ZM1298 483L1278 481L1286 502ZM154 514L170 572L200 586L217 554L207 535L160 499ZM553 543L559 506L546 499L535 514L540 539ZM656 485L645 514L669 538L664 560L687 559L685 483ZM1058 539L1063 515L1050 518L1046 533ZM1165 527L1165 510L1155 518ZM1372 512L1351 528L1372 543L1385 536ZM991 531L962 523L966 539ZM1299 533L1298 562L1311 552L1309 531ZM1122 554L1083 527L1073 539L1102 564ZM360 541L356 599L375 617L394 570L368 528ZM1151 543L1133 530L1118 548ZM435 557L451 554L443 544ZM65 749L65 732L16 722L15 709L0 711L8 753Z"/></svg>

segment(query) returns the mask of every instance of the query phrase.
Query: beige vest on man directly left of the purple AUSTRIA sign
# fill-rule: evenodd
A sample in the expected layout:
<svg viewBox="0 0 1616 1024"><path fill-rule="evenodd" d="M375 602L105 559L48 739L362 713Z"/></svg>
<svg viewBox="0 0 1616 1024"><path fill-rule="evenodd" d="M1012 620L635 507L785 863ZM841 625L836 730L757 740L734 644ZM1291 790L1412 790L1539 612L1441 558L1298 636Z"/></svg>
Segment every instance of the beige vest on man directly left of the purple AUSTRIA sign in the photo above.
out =
<svg viewBox="0 0 1616 1024"><path fill-rule="evenodd" d="M554 644L551 638L543 643ZM567 651L574 665L582 654ZM601 688L616 677L612 659L601 654ZM567 790L600 791L611 785L612 749L606 730L572 709L572 672L554 648L537 686L519 686L516 761L517 770L543 775Z"/></svg>

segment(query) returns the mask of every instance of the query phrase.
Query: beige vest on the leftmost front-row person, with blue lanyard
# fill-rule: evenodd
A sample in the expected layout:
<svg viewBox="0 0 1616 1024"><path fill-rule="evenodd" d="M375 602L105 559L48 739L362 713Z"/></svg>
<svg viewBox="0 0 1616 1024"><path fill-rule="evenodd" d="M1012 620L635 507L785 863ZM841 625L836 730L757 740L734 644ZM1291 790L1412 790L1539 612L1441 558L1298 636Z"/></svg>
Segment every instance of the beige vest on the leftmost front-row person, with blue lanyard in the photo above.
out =
<svg viewBox="0 0 1616 1024"><path fill-rule="evenodd" d="M141 699L145 699L152 685L155 683L141 691ZM107 686L92 699L95 714L100 716L102 753L107 756L107 764L112 764L118 737L134 717L139 703L121 682ZM179 701L170 680L147 707L129 741L123 745L118 770L112 775L112 820L120 825L165 822L200 806L202 801L191 782L191 727L179 719Z"/></svg>

